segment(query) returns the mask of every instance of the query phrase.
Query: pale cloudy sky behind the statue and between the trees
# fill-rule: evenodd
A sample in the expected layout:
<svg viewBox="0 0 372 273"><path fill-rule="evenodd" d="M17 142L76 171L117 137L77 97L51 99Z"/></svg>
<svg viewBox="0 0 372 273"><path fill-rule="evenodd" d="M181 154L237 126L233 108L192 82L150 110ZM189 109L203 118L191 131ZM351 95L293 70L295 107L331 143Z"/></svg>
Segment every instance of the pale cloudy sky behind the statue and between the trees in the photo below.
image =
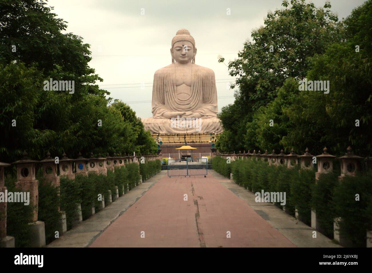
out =
<svg viewBox="0 0 372 273"><path fill-rule="evenodd" d="M309 2L309 1L307 1ZM323 6L325 0L312 0ZM339 20L363 0L331 0ZM263 25L268 10L282 0L49 0L54 13L67 21L67 32L91 45L90 66L104 79L101 88L128 103L137 116L151 117L154 72L171 63L171 40L186 28L198 49L196 64L211 68L217 83L218 110L234 102L227 66L217 55L237 58L251 31ZM141 15L144 11L144 15ZM231 15L227 15L227 9ZM232 80L233 81L233 80Z"/></svg>

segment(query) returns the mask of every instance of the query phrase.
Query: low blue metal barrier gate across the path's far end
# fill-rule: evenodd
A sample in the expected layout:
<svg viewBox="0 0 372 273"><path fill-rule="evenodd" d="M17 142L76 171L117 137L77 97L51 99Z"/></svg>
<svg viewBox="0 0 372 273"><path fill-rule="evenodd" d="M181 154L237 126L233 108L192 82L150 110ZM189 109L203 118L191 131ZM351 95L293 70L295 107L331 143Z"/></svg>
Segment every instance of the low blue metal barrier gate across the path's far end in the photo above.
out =
<svg viewBox="0 0 372 273"><path fill-rule="evenodd" d="M208 158L168 159L168 176L208 175Z"/></svg>

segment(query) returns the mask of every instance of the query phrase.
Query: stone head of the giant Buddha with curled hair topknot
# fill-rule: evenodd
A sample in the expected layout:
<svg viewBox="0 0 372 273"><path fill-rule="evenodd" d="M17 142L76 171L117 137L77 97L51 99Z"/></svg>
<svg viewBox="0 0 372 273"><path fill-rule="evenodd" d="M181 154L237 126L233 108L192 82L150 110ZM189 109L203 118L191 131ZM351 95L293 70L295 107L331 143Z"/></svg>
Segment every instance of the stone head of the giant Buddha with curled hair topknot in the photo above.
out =
<svg viewBox="0 0 372 273"><path fill-rule="evenodd" d="M177 31L176 36L172 39L170 54L172 55L172 63L176 61L180 64L188 64L189 62L195 64L195 40L189 30L180 29Z"/></svg>

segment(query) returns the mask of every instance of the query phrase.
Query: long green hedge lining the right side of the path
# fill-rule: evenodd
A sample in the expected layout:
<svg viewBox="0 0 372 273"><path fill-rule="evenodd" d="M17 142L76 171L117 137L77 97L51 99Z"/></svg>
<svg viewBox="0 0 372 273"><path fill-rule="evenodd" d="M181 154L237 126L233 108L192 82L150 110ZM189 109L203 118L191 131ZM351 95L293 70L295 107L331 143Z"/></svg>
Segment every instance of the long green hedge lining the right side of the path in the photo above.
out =
<svg viewBox="0 0 372 273"><path fill-rule="evenodd" d="M337 168L337 160L336 162ZM341 217L340 235L348 238L354 246L366 246L366 231L372 230L372 175L346 176L341 181L340 171L319 176L315 183L315 169L269 166L256 160L235 160L226 163L222 157L214 157L213 169L226 177L229 167L235 183L249 191L286 192L286 211L311 224L311 209L317 213L320 231L333 238L333 221ZM356 201L359 194L359 201ZM276 202L280 206L280 202Z"/></svg>

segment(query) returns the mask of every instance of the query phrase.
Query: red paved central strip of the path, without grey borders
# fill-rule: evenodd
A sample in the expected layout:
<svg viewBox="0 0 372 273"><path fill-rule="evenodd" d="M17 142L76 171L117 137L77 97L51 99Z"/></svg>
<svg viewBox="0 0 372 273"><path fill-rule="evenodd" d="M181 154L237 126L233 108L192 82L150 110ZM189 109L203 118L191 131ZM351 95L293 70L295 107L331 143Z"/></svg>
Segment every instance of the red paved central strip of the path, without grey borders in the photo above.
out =
<svg viewBox="0 0 372 273"><path fill-rule="evenodd" d="M184 201L184 194L188 201ZM141 238L141 231L145 238ZM227 238L227 231L231 238ZM295 247L212 175L164 176L90 247Z"/></svg>

